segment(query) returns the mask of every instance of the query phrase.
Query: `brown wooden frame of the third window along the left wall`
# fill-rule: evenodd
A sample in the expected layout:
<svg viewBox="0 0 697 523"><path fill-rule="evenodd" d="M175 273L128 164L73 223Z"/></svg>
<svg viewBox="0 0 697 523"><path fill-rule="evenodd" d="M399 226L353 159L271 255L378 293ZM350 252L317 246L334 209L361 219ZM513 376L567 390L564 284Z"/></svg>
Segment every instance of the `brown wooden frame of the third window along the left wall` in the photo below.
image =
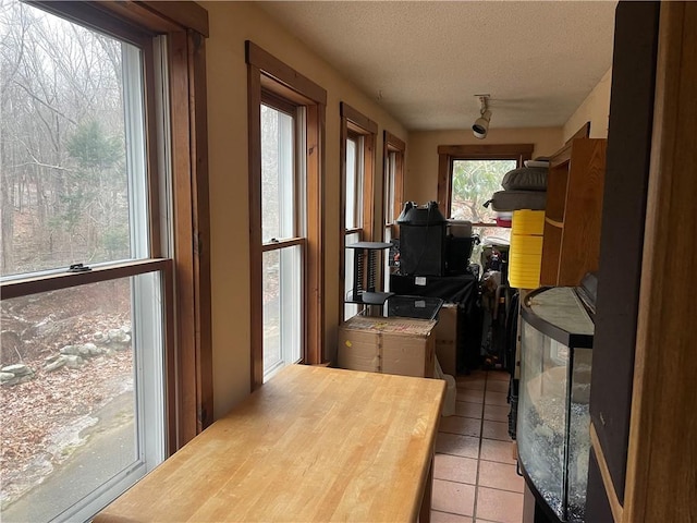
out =
<svg viewBox="0 0 697 523"><path fill-rule="evenodd" d="M339 106L341 115L340 158L340 210L339 210L339 324L343 323L344 287L346 284L346 234L360 233L360 241L370 242L374 238L375 217L375 166L378 124L362 114L346 102ZM351 135L363 137L363 217L362 228L346 230L346 141Z"/></svg>

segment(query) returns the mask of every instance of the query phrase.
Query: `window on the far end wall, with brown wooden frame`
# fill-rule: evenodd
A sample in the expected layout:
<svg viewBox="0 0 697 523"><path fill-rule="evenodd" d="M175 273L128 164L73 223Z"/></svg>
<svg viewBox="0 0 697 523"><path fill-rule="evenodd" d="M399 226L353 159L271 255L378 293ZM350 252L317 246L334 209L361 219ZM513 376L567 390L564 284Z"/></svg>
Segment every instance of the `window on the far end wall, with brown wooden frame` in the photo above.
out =
<svg viewBox="0 0 697 523"><path fill-rule="evenodd" d="M472 263L480 263L480 253L487 243L509 243L511 229L498 227L497 212L484 204L493 193L503 190L501 181L505 173L522 167L531 153L529 144L438 147L439 207L448 218L473 223L473 233L481 243L475 246Z"/></svg>

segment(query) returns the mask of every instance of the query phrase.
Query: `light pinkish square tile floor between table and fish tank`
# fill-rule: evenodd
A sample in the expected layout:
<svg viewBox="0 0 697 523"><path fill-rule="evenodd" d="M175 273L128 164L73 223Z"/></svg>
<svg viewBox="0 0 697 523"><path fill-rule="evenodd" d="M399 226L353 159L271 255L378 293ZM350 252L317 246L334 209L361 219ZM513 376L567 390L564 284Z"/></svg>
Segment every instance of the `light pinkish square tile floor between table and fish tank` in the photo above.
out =
<svg viewBox="0 0 697 523"><path fill-rule="evenodd" d="M509 374L457 378L455 415L442 417L433 465L433 523L519 523L523 478L509 437Z"/></svg>

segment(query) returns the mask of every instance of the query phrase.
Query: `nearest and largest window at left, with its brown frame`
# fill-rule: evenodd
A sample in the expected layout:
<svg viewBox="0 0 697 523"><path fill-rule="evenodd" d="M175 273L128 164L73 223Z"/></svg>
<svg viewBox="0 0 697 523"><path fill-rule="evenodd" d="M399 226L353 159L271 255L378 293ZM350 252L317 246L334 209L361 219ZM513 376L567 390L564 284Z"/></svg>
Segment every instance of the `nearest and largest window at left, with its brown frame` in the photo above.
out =
<svg viewBox="0 0 697 523"><path fill-rule="evenodd" d="M197 299L208 292L171 242L194 238L172 205L191 198L172 179L191 186L192 174L175 166L189 146L206 151L205 134L189 136L200 129L189 126L193 98L172 95L183 129L169 110L170 82L189 75L169 58L186 33L142 25L142 10L160 16L147 2L46 5L0 7L0 519L17 522L89 520L193 437L210 408L196 393L209 379L184 364L206 353L172 321L175 311L180 325L197 321L180 278L196 281ZM187 85L201 87L195 76ZM186 136L176 151L172 130Z"/></svg>

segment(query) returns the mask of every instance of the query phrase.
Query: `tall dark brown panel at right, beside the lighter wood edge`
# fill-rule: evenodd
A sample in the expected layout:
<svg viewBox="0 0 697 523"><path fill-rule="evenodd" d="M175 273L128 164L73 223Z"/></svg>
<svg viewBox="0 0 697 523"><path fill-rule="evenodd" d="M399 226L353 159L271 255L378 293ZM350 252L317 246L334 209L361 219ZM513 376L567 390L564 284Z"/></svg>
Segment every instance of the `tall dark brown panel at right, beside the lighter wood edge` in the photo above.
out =
<svg viewBox="0 0 697 523"><path fill-rule="evenodd" d="M620 2L590 399L591 418L620 502L624 499L657 41L658 2ZM589 496L595 491L590 485Z"/></svg>

